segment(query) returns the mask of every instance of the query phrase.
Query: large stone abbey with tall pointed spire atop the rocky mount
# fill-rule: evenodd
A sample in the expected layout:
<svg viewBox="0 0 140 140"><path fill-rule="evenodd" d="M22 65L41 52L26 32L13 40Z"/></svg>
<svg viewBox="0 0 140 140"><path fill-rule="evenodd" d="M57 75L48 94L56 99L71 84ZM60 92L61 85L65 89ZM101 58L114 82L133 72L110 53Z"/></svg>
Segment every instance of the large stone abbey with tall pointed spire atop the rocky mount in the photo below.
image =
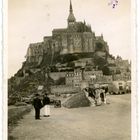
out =
<svg viewBox="0 0 140 140"><path fill-rule="evenodd" d="M45 36L43 42L31 43L26 59L28 63L41 63L44 54L62 55L98 51L109 53L107 42L104 41L103 35L95 36L91 26L87 25L85 21L76 21L70 1L67 27L53 29L52 36Z"/></svg>

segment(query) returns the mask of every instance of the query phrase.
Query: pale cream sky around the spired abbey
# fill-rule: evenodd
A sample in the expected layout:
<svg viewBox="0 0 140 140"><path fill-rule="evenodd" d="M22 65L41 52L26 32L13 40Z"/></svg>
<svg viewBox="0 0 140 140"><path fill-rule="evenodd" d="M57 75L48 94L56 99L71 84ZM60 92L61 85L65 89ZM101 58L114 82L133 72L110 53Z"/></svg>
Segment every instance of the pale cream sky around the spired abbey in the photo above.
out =
<svg viewBox="0 0 140 140"><path fill-rule="evenodd" d="M103 34L110 54L131 60L131 0L72 0L76 21L86 21L95 35ZM30 43L67 27L69 0L8 0L8 78L26 60Z"/></svg>

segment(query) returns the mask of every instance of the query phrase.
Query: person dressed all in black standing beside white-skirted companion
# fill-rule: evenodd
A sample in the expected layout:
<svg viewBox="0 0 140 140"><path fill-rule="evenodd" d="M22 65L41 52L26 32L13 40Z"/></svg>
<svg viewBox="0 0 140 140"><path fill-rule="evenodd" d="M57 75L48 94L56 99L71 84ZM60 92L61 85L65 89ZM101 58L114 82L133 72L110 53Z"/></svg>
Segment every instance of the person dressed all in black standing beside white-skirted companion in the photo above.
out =
<svg viewBox="0 0 140 140"><path fill-rule="evenodd" d="M33 100L33 106L35 108L35 119L40 120L40 109L42 108L42 103L39 94L35 95L35 99Z"/></svg>

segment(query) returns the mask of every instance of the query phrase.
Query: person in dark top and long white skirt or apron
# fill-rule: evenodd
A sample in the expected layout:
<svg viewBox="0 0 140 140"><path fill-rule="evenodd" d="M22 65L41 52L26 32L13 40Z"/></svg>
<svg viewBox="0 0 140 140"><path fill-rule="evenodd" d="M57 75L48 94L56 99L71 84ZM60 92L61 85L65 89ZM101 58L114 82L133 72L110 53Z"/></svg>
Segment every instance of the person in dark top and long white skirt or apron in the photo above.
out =
<svg viewBox="0 0 140 140"><path fill-rule="evenodd" d="M50 98L47 96L47 94L44 95L43 106L44 106L44 117L49 117L50 116Z"/></svg>

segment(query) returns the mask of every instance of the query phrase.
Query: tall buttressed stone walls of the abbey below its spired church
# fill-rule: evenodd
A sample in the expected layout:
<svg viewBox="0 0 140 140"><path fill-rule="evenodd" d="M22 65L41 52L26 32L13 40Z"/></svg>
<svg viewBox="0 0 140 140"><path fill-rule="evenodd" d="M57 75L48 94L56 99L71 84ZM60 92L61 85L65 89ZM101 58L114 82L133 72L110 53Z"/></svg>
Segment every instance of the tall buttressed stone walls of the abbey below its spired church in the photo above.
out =
<svg viewBox="0 0 140 140"><path fill-rule="evenodd" d="M103 40L103 37L95 37L92 32L69 32L68 29L55 29L53 36L45 36L43 42L30 44L26 57L28 62L40 63L41 57L39 56L43 56L46 53L94 52L97 42L103 44L104 52L108 50L107 43Z"/></svg>

